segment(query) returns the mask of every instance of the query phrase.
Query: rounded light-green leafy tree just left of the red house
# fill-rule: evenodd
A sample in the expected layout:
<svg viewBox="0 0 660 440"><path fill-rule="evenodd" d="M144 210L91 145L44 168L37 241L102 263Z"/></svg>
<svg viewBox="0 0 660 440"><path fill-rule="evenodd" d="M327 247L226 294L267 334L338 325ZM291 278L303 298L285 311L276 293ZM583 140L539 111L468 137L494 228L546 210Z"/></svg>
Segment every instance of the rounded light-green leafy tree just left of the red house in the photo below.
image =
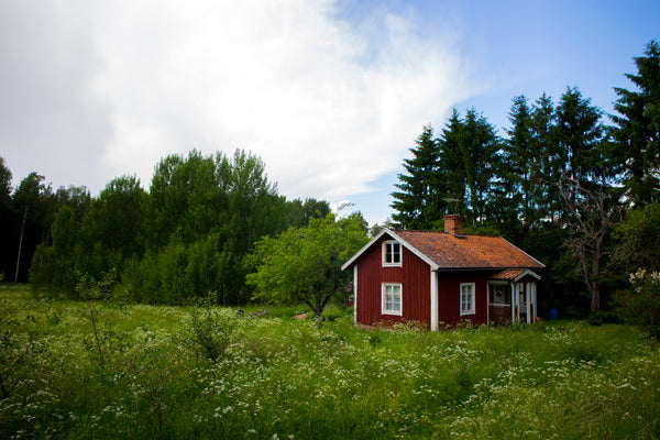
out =
<svg viewBox="0 0 660 440"><path fill-rule="evenodd" d="M289 228L275 239L257 242L250 258L255 272L246 282L256 287L255 299L305 302L320 319L330 298L340 295L351 279L341 265L366 240L359 216L312 219L305 228Z"/></svg>

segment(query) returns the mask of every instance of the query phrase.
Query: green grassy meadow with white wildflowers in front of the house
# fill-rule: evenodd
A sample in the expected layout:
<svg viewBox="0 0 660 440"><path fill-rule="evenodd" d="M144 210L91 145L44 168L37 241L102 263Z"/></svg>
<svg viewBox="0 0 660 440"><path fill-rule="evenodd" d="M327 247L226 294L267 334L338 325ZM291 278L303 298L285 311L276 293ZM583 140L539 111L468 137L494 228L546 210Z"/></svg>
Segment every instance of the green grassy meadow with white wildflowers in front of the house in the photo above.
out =
<svg viewBox="0 0 660 440"><path fill-rule="evenodd" d="M0 438L660 438L660 350L635 328L365 330L298 311L0 287Z"/></svg>

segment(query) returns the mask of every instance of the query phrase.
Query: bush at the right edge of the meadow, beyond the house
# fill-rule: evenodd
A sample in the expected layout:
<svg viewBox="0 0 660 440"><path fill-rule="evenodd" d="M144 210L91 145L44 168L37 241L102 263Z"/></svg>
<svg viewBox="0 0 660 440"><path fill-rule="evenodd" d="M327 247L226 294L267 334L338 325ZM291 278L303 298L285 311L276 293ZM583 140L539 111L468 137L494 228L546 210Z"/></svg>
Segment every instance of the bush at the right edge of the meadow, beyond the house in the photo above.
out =
<svg viewBox="0 0 660 440"><path fill-rule="evenodd" d="M614 305L626 321L660 340L660 273L639 270L630 274L630 285L614 295Z"/></svg>

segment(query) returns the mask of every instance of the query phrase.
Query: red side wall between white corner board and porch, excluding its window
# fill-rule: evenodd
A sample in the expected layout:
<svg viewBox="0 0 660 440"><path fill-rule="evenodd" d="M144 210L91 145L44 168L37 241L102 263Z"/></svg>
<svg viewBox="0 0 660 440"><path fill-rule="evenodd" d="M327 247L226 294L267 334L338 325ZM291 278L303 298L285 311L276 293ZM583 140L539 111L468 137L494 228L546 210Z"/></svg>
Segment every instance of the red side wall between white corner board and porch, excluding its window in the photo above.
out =
<svg viewBox="0 0 660 440"><path fill-rule="evenodd" d="M461 284L474 283L474 315L461 316ZM454 326L460 321L487 322L487 286L485 274L476 272L438 272L438 321Z"/></svg>

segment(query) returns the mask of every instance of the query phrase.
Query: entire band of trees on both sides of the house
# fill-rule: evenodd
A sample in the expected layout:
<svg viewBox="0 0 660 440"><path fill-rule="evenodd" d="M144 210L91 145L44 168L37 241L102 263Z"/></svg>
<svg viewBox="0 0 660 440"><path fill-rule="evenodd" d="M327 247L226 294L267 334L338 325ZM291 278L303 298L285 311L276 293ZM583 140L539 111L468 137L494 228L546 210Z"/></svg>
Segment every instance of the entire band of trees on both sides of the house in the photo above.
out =
<svg viewBox="0 0 660 440"><path fill-rule="evenodd" d="M626 76L636 89L615 88L612 125L569 87L557 105L515 97L505 136L474 109L454 110L438 134L425 127L398 176L392 223L439 230L444 213L462 213L465 232L503 235L544 262L541 306L569 316L609 304L630 273L660 271L658 43L635 62ZM81 282L110 279L136 302L279 297L320 315L369 229L360 213L337 220L327 201L287 200L240 150L169 155L148 189L122 176L96 198L85 187L53 190L37 173L15 190L11 180L0 157L0 279L70 298ZM295 257L302 284L279 276Z"/></svg>

